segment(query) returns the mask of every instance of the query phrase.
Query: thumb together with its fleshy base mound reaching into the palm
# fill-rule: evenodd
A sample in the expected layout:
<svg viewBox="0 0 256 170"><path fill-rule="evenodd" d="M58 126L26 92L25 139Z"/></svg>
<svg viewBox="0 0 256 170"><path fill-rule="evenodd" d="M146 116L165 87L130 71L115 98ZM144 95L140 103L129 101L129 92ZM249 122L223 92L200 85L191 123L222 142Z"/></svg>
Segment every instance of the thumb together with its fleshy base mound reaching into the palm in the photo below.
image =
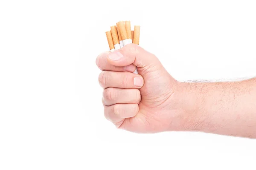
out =
<svg viewBox="0 0 256 170"><path fill-rule="evenodd" d="M128 44L116 50L107 57L111 65L127 66L134 64L137 66L138 73L143 76L144 85L140 88L143 101L151 106L159 105L156 99L166 101L175 79L165 70L163 65L154 54L145 51L139 45Z"/></svg>

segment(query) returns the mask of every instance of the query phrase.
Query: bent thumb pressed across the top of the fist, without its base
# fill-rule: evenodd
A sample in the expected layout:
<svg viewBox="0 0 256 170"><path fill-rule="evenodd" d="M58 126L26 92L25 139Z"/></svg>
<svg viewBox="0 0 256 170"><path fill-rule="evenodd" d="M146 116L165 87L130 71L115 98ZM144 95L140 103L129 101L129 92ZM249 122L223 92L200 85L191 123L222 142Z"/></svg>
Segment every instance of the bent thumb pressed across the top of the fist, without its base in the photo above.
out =
<svg viewBox="0 0 256 170"><path fill-rule="evenodd" d="M139 45L128 44L119 50L108 54L108 62L116 66L136 65L138 68L160 66L161 63L154 54L145 51ZM153 67L153 68L154 68ZM141 69L140 69L141 70Z"/></svg>

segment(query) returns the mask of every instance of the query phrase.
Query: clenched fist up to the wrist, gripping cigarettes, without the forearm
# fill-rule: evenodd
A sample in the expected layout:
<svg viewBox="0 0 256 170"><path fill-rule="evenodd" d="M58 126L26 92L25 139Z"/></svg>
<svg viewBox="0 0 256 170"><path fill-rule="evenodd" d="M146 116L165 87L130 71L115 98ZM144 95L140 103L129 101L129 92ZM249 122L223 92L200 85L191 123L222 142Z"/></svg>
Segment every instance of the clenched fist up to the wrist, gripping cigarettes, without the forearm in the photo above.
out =
<svg viewBox="0 0 256 170"><path fill-rule="evenodd" d="M153 54L129 44L96 59L102 70L105 117L116 127L139 133L186 130L190 114L182 87ZM135 66L139 74L133 74Z"/></svg>

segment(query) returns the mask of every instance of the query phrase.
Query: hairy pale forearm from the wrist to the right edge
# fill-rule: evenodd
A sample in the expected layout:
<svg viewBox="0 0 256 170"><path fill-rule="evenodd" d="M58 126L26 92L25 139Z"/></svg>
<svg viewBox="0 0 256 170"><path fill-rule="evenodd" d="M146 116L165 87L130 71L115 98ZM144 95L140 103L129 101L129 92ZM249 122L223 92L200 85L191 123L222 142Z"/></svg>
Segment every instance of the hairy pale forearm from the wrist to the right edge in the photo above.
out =
<svg viewBox="0 0 256 170"><path fill-rule="evenodd" d="M256 138L256 79L181 86L192 130Z"/></svg>

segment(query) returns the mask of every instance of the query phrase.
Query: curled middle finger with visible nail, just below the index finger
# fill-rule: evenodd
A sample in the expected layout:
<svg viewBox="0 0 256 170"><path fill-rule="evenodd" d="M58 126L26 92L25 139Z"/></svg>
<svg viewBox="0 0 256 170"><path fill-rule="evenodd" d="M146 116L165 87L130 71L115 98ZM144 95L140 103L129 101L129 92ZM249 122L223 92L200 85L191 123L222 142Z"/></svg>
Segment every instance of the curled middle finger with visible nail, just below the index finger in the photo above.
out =
<svg viewBox="0 0 256 170"><path fill-rule="evenodd" d="M103 88L141 88L143 77L129 72L102 71L99 74L99 84Z"/></svg>

